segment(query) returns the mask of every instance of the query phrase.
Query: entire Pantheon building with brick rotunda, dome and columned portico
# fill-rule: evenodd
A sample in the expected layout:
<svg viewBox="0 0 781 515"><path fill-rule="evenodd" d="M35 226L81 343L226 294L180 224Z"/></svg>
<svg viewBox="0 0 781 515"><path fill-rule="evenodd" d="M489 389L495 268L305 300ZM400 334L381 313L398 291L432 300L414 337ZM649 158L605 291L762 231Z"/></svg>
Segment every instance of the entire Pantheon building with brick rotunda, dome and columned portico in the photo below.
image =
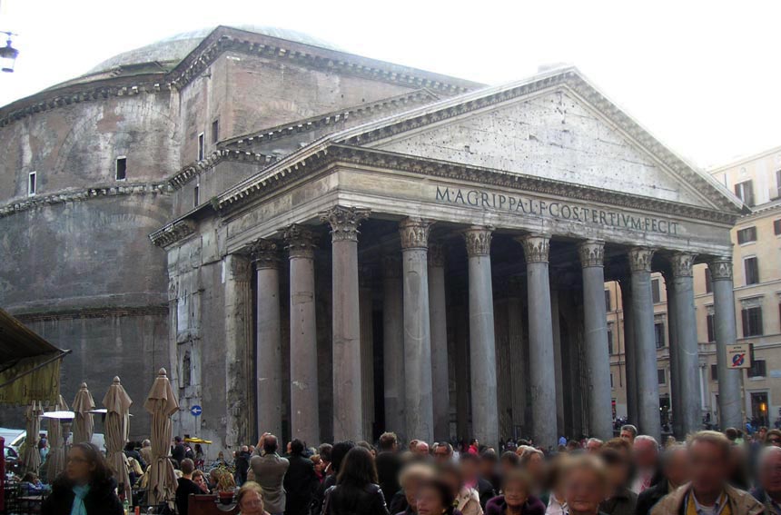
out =
<svg viewBox="0 0 781 515"><path fill-rule="evenodd" d="M165 367L176 431L214 451L262 431L608 438L608 281L630 417L660 436L651 272L694 430L703 262L721 422L740 425L746 208L575 68L487 86L218 26L6 105L0 153L0 306L73 351L66 399L119 374L133 436Z"/></svg>

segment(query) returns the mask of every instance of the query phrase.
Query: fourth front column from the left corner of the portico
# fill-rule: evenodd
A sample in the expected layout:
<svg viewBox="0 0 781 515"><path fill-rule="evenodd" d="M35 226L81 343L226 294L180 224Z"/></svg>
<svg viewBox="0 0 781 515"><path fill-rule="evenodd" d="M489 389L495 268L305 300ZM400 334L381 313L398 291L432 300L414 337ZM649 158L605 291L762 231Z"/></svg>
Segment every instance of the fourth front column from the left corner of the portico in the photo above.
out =
<svg viewBox="0 0 781 515"><path fill-rule="evenodd" d="M547 236L519 238L526 256L529 292L529 379L531 382L532 438L543 449L554 448L556 431L556 363L550 314Z"/></svg>

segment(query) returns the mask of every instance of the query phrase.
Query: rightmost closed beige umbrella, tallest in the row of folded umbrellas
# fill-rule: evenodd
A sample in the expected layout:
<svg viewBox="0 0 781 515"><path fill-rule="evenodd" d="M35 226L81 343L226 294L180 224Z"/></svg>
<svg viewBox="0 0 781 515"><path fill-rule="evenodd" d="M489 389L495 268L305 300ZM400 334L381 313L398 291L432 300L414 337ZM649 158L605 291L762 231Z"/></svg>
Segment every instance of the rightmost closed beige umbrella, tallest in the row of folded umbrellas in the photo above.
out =
<svg viewBox="0 0 781 515"><path fill-rule="evenodd" d="M152 390L143 403L146 411L152 414L152 469L149 478L149 503L173 504L176 495L176 475L168 460L173 439L171 415L179 411L179 401L173 394L171 381L168 381L165 369L157 372ZM173 505L172 505L173 508Z"/></svg>

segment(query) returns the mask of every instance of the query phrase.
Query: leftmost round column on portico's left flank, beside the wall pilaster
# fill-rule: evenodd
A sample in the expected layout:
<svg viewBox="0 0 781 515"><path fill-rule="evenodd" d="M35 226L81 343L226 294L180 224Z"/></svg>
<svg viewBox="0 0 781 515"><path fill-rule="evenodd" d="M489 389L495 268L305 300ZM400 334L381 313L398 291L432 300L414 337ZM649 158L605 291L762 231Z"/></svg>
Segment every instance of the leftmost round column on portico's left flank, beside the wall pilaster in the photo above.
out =
<svg viewBox="0 0 781 515"><path fill-rule="evenodd" d="M257 240L252 245L257 276L255 325L258 373L258 431L282 434L282 336L277 244Z"/></svg>

